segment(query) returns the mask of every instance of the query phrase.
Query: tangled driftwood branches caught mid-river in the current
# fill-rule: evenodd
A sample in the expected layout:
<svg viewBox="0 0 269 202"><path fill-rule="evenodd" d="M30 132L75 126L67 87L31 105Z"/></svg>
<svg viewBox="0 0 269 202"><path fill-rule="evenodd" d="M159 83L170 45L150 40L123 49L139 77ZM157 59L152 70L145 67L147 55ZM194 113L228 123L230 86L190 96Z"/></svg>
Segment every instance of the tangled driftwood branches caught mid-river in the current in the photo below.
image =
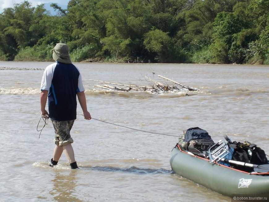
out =
<svg viewBox="0 0 269 202"><path fill-rule="evenodd" d="M92 80L92 81L99 81L99 82L105 83L103 85L95 85L98 88L103 88L103 89L108 89L108 90L116 90L116 91L125 91L125 92L150 91L153 93L161 93L161 92L169 92L169 91L173 91L173 92L174 91L178 91L178 92L199 91L199 89L197 89L197 88L190 88L189 86L182 85L181 83L178 83L176 81L168 79L164 76L158 75L158 77L160 77L161 79L170 81L172 84L176 84L176 85L170 86L168 84L163 84L163 83L160 83L156 80L153 80L147 76L145 76L145 78L147 80L150 80L151 82L153 82L153 84L151 84L150 86L139 86L139 85L133 85L133 84L116 84L116 83L100 81L100 80ZM108 84L112 84L113 86L108 85Z"/></svg>

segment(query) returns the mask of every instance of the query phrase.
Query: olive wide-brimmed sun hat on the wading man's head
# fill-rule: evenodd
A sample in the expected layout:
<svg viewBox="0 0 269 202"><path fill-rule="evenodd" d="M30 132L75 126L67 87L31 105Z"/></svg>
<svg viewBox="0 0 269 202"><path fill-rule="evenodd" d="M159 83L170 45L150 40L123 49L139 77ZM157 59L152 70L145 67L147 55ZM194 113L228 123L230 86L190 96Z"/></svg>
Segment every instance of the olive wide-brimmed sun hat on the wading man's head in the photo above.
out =
<svg viewBox="0 0 269 202"><path fill-rule="evenodd" d="M66 44L58 43L55 45L53 50L52 57L55 61L70 64L70 56L68 53L68 46Z"/></svg>

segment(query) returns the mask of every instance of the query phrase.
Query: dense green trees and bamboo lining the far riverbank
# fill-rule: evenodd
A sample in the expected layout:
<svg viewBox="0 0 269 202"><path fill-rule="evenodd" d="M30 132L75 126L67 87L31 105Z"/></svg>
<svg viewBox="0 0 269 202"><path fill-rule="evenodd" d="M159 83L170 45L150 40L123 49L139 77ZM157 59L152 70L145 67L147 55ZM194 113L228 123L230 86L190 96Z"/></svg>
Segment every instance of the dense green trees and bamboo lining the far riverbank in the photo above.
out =
<svg viewBox="0 0 269 202"><path fill-rule="evenodd" d="M268 0L24 1L0 14L0 60L269 64Z"/></svg>

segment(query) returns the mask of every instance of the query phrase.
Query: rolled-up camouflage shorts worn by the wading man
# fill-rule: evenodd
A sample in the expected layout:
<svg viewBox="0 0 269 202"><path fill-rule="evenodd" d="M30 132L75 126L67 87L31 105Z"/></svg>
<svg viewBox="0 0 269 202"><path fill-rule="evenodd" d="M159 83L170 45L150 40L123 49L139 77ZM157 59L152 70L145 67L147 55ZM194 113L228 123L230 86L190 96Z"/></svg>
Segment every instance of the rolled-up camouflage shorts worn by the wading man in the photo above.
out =
<svg viewBox="0 0 269 202"><path fill-rule="evenodd" d="M54 121L51 119L51 121L55 131L55 139L54 139L55 144L61 147L74 142L73 139L71 138L70 130L72 129L75 120Z"/></svg>

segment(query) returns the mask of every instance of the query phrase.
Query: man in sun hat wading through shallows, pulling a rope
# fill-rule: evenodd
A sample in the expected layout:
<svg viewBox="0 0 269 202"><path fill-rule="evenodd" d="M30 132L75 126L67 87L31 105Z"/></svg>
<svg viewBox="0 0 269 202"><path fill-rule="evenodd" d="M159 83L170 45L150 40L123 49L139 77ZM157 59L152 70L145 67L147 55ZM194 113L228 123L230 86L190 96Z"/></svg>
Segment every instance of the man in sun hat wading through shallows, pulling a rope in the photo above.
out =
<svg viewBox="0 0 269 202"><path fill-rule="evenodd" d="M71 145L73 139L70 130L76 119L78 96L84 118L90 120L91 114L87 110L84 87L81 74L77 67L71 64L66 44L58 43L53 49L53 63L46 67L40 93L41 115L50 118L55 130L55 148L49 165L57 165L62 152L65 151L71 169L78 168L74 150ZM45 110L48 98L49 113Z"/></svg>

